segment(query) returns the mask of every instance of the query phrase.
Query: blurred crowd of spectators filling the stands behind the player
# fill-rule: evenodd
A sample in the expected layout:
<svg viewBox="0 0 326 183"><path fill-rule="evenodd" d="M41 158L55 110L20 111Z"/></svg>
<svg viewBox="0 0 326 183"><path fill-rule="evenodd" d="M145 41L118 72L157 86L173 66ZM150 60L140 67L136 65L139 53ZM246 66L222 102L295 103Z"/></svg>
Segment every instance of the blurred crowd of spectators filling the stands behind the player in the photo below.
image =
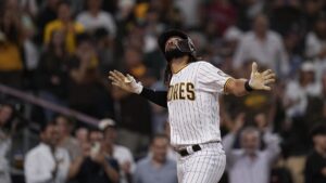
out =
<svg viewBox="0 0 326 183"><path fill-rule="evenodd" d="M166 109L108 80L166 90L170 28L236 78L277 74L272 92L221 96L222 182L326 182L324 0L1 0L0 83L101 120L0 93L0 182L176 183Z"/></svg>

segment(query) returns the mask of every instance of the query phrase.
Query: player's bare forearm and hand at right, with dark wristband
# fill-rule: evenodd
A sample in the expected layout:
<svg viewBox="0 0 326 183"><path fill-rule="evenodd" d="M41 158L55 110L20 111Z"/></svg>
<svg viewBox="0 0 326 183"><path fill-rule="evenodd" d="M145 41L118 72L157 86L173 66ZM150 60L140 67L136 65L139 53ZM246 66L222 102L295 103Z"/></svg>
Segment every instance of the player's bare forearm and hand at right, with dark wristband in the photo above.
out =
<svg viewBox="0 0 326 183"><path fill-rule="evenodd" d="M250 79L234 79L230 78L226 83L227 93L241 96L248 94L252 90L266 90L269 91L269 84L275 82L276 75L267 69L265 71L259 73L256 63L252 63L252 70Z"/></svg>

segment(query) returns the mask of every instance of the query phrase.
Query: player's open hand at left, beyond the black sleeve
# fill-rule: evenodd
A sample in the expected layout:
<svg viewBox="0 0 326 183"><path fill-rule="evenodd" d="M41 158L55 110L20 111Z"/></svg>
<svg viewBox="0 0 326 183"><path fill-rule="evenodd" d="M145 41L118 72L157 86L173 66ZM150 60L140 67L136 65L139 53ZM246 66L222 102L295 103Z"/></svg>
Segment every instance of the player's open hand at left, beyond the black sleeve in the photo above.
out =
<svg viewBox="0 0 326 183"><path fill-rule="evenodd" d="M142 84L140 82L137 82L133 76L125 76L117 70L110 71L109 79L112 81L113 86L116 86L131 93L139 94L142 90Z"/></svg>

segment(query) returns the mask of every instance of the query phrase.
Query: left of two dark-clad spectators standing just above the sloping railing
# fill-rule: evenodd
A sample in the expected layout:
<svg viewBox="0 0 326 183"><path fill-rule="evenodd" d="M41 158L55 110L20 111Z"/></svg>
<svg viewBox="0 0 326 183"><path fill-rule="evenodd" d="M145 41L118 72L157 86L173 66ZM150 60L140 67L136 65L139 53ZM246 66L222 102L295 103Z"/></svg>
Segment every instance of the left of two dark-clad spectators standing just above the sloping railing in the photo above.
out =
<svg viewBox="0 0 326 183"><path fill-rule="evenodd" d="M54 104L67 105L68 65L72 60L64 44L63 30L54 30L38 62L36 80L39 95ZM47 121L54 113L45 110Z"/></svg>

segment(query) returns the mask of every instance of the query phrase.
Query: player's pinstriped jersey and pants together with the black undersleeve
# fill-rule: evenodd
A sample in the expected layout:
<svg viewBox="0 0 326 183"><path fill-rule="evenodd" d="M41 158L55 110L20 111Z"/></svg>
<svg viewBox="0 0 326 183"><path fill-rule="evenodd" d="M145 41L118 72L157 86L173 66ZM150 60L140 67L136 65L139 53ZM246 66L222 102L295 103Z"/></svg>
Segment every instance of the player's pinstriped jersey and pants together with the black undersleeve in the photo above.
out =
<svg viewBox="0 0 326 183"><path fill-rule="evenodd" d="M212 64L198 61L172 76L167 93L148 89L140 93L162 106L167 102L171 144L177 152L187 152L177 160L180 183L216 183L224 172L218 94L224 93L229 78ZM200 151L195 152L193 145Z"/></svg>

